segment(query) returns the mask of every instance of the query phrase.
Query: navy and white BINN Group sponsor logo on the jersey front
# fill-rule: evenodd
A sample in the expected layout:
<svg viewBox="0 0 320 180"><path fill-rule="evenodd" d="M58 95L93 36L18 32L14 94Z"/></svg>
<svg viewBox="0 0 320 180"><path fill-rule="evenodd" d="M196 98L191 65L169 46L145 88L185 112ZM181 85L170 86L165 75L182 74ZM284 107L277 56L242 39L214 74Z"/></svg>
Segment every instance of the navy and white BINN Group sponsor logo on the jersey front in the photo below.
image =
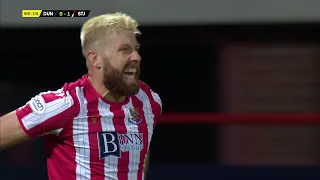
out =
<svg viewBox="0 0 320 180"><path fill-rule="evenodd" d="M99 132L98 143L100 159L111 155L120 157L121 152L143 149L143 133Z"/></svg>

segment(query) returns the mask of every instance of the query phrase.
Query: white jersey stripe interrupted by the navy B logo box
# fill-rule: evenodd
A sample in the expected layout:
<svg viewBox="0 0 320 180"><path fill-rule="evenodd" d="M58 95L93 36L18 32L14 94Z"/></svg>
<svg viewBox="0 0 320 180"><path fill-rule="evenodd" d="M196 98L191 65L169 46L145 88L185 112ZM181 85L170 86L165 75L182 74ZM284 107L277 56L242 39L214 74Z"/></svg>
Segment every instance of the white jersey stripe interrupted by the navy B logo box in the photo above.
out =
<svg viewBox="0 0 320 180"><path fill-rule="evenodd" d="M113 125L113 113L110 111L110 105L104 103L101 99L98 102L98 110L101 115L101 128L102 131L115 132ZM104 174L105 180L117 180L118 179L118 158L115 156L107 156L104 159Z"/></svg>

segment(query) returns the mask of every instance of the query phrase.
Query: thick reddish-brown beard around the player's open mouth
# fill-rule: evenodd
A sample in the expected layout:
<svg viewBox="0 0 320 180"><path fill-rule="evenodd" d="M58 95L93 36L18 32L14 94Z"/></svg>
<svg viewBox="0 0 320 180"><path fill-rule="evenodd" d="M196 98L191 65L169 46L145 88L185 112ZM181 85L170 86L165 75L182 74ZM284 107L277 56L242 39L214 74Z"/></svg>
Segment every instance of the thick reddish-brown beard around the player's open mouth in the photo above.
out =
<svg viewBox="0 0 320 180"><path fill-rule="evenodd" d="M103 83L106 88L119 96L133 96L140 90L140 67L136 67L134 78L129 78L125 74L125 70L130 67L136 67L132 63L128 63L122 70L116 69L106 62L104 67Z"/></svg>

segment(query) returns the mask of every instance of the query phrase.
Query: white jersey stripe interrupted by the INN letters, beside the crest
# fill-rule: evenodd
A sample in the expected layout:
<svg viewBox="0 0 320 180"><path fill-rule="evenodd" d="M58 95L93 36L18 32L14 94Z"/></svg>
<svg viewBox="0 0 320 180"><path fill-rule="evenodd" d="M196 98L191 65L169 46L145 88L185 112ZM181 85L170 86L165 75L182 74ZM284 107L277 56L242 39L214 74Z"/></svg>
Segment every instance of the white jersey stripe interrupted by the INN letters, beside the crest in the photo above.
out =
<svg viewBox="0 0 320 180"><path fill-rule="evenodd" d="M129 108L134 109L132 100L130 99ZM128 105L124 105L122 108L125 110L125 126L127 128L127 132L130 133L138 133L139 129L138 126L135 124L130 124L128 118L130 118L130 111L128 109ZM128 173L128 180L137 180L137 171L139 169L139 162L140 162L140 151L129 151L129 173Z"/></svg>

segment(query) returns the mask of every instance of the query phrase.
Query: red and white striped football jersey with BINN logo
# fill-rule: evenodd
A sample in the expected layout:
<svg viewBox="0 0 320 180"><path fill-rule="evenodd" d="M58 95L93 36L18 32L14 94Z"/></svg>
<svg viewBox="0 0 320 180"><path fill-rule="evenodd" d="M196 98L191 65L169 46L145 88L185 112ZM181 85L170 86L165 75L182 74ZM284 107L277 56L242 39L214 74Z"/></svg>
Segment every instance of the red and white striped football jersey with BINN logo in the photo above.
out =
<svg viewBox="0 0 320 180"><path fill-rule="evenodd" d="M140 84L138 94L114 103L103 99L84 75L16 110L30 137L46 134L49 179L144 179L144 160L162 103Z"/></svg>

